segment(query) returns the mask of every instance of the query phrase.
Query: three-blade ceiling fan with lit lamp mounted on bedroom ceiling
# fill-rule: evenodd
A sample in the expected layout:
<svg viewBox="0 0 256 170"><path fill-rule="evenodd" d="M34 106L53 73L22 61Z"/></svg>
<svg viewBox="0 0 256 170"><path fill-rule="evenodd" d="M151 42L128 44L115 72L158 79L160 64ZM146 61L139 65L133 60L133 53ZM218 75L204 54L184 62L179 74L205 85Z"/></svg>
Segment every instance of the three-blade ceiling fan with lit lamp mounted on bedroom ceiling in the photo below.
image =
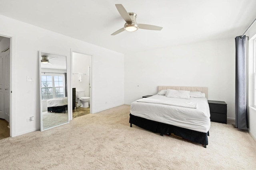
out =
<svg viewBox="0 0 256 170"><path fill-rule="evenodd" d="M124 19L124 21L126 21L126 23L124 24L123 28L118 29L116 32L112 33L111 35L116 35L118 33L121 33L124 30L131 32L131 31L136 31L140 28L140 29L150 29L150 30L160 31L163 28L163 27L158 27L156 25L137 23L136 22L137 14L135 14L134 12L128 13L125 10L124 6L122 6L122 4L116 4L116 8L117 8L119 14Z"/></svg>

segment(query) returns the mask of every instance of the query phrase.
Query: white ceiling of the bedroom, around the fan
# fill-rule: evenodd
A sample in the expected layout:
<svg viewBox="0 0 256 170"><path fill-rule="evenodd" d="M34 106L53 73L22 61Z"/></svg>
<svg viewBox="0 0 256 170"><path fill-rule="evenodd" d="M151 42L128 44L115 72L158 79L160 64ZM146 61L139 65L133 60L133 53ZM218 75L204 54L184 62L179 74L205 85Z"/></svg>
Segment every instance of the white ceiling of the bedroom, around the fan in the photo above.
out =
<svg viewBox="0 0 256 170"><path fill-rule="evenodd" d="M125 23L115 4L163 29L110 35ZM242 35L256 0L0 0L0 15L129 53Z"/></svg>

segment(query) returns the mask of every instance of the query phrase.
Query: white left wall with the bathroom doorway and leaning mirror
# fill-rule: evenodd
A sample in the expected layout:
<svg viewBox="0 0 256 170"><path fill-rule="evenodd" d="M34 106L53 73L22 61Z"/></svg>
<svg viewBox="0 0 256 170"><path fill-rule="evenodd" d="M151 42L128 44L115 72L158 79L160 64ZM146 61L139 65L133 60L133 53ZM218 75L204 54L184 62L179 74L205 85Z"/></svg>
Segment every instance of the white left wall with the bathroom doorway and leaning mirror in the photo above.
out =
<svg viewBox="0 0 256 170"><path fill-rule="evenodd" d="M15 81L12 89L12 136L35 131L40 127L38 51L67 56L69 71L70 49L92 55L93 113L124 104L123 54L5 16L0 16L0 23L0 35L12 35L16 47L13 56ZM32 82L26 82L26 76L31 76ZM71 95L71 89L68 94ZM31 116L35 117L35 121L27 122L26 119Z"/></svg>

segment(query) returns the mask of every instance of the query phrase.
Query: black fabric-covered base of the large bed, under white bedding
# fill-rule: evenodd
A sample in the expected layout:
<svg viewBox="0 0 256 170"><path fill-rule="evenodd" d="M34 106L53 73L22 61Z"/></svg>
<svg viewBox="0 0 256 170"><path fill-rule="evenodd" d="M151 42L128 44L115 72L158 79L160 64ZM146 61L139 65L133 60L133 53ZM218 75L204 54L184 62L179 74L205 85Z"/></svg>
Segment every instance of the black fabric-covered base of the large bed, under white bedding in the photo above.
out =
<svg viewBox="0 0 256 170"><path fill-rule="evenodd" d="M168 125L166 123L160 123L157 121L152 121L142 117L134 116L131 113L129 123L130 127L132 127L132 124L134 124L138 127L152 131L154 133L160 133L161 136L170 135L171 133L173 133L174 135L182 137L183 139L195 143L200 143L204 145L204 148L206 148L206 145L208 145L209 131L207 133L193 131L190 129L177 127L174 125Z"/></svg>

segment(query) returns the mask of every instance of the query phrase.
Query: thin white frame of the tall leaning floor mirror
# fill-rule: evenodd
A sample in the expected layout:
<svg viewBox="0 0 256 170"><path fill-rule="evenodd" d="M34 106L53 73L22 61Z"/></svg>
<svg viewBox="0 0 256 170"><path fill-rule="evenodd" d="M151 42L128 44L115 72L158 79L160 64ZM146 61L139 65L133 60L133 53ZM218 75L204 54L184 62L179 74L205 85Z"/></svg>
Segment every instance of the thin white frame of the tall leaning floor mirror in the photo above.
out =
<svg viewBox="0 0 256 170"><path fill-rule="evenodd" d="M67 73L67 90L68 90L68 92L67 92L67 94L68 94L68 96L67 96L67 99L68 99L68 120L67 120L67 122L65 122L65 123L62 123L62 124L60 124L60 125L56 125L56 126L53 126L53 127L49 127L49 128L46 128L46 129L43 129L43 115L42 115L42 93L41 93L41 88L42 88L42 81L41 81L41 53L48 53L48 54L52 54L52 55L59 55L59 56L63 56L63 57L66 57L66 73ZM56 53L50 53L50 52L45 52L45 51L38 51L38 59L39 59L39 61L38 61L38 65L39 65L39 103L40 103L40 131L45 131L45 130L48 130L48 129L52 129L52 128L54 128L54 127L58 127L58 126L61 126L61 125L64 125L64 124L67 124L67 123L69 123L69 121L70 121L70 93L69 93L69 89L70 89L70 76L69 76L69 74L68 74L68 60L67 60L67 56L66 55L61 55L61 54L56 54Z"/></svg>

